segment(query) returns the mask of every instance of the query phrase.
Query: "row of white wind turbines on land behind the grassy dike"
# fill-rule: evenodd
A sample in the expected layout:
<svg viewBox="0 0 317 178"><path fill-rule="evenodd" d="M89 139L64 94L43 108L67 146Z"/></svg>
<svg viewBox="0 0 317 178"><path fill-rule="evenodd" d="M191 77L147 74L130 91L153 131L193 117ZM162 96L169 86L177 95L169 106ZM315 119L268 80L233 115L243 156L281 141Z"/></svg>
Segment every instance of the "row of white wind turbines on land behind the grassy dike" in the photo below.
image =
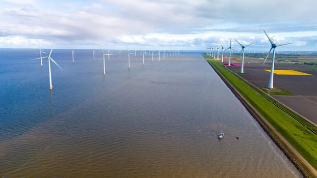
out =
<svg viewBox="0 0 317 178"><path fill-rule="evenodd" d="M286 43L286 44L280 44L277 45L276 43L274 43L272 41L272 39L269 37L269 35L266 33L266 31L263 29L263 32L266 34L266 36L268 37L270 43L271 43L271 49L267 55L267 57L265 58L263 64L265 64L265 62L267 61L272 49L273 49L273 57L272 57L272 63L271 63L271 72L270 72L270 79L269 79L269 84L268 84L268 88L272 89L273 88L273 79L274 79L274 62L275 62L275 48L278 46L283 46L283 45L288 45L288 44L292 44L292 43ZM242 56L242 60L241 60L241 69L240 69L240 73L244 73L244 50L246 47L252 45L253 43L250 43L248 45L243 45L241 44L239 41L235 40L240 46L241 46L241 52L240 55ZM217 54L217 60L219 60L219 46L218 47L210 47L207 48L207 54L211 57L216 58L216 48L218 49L218 54ZM214 50L215 49L215 50ZM231 49L234 50L231 47L231 39L230 39L230 46L227 49L224 49L224 47L221 44L221 52L222 52L222 59L221 59L221 63L223 63L223 53L224 51L229 49L229 60L228 60L228 66L231 66Z"/></svg>

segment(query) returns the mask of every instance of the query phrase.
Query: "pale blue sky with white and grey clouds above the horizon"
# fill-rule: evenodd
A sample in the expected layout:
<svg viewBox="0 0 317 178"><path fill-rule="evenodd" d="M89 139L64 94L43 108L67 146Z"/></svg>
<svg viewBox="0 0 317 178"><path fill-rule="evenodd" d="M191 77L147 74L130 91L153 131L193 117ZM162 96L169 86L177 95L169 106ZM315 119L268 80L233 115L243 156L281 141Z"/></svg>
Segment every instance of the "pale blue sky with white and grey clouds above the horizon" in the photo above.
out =
<svg viewBox="0 0 317 178"><path fill-rule="evenodd" d="M0 0L0 48L317 50L315 0Z"/></svg>

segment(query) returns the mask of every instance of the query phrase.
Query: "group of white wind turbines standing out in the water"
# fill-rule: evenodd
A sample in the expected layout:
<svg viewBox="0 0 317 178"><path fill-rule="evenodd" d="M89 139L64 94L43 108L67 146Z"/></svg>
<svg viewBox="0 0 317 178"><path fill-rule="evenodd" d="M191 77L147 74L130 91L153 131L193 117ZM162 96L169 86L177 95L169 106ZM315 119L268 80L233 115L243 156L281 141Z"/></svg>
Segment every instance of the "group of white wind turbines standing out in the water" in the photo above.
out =
<svg viewBox="0 0 317 178"><path fill-rule="evenodd" d="M101 49L101 52L102 52L102 57L100 57L100 60L101 58L103 58L103 76L105 76L105 58L104 56L107 55L108 56L108 60L110 60L110 55L114 55L114 54L111 54L111 51L108 49L108 53L104 53L103 49L101 48L101 46L99 45L100 49ZM40 48L40 51L36 54L40 54L40 57L38 58L33 58L32 60L41 60L41 67L43 66L43 62L42 60L44 58L47 58L48 60L48 72L49 72L49 90L52 90L53 89L53 86L52 86L52 79L51 79L51 68L50 68L50 61L53 62L55 65L57 65L61 70L63 70L50 56L51 56L51 53L52 53L52 50L53 49L50 49L50 52L47 56L42 56L42 53L44 54L47 54L46 52L42 51L42 49ZM165 58L165 53L167 52L167 55L168 53L170 52L170 56L172 55L179 55L180 54L180 51L165 51L165 50L158 50L157 53L158 53L158 61L160 61L160 52L163 52L164 53L164 58ZM140 54L142 55L143 54L143 65L144 65L144 52L143 50L140 51ZM156 53L156 51L155 51ZM74 55L75 55L75 52L74 52L74 49L71 51L71 54L72 54L72 63L74 64ZM130 69L130 54L135 54L135 56L137 56L137 53L136 53L136 50L135 50L135 53L131 53L129 52L129 50L127 50L127 55L128 55L128 69ZM154 50L152 50L152 62L153 62L153 54L154 54ZM93 50L93 60L95 61L95 56L96 56L96 51L95 49ZM119 50L119 57L121 57L121 50Z"/></svg>

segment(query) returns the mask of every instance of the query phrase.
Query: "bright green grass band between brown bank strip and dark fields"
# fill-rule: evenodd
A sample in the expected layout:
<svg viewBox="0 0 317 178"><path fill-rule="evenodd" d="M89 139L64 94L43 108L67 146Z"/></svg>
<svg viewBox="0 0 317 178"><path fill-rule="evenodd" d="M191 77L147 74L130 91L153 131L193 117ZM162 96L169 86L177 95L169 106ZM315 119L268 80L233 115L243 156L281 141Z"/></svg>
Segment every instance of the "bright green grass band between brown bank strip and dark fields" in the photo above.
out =
<svg viewBox="0 0 317 178"><path fill-rule="evenodd" d="M257 112L264 117L270 124L275 128L275 130L282 135L282 137L290 143L297 152L316 170L317 169L317 135L314 134L311 130L314 130L315 127L307 122L304 118L296 116L293 118L292 114L294 112L286 113L289 110L286 107L281 109L277 105L281 105L276 100L270 96L262 96L263 91L254 86L250 86L246 83L244 79L234 74L234 72L228 70L221 63L212 60L209 56L204 55L206 60L214 66L214 68L238 91L247 102L249 102ZM270 135L274 137L274 135ZM278 138L273 138L276 142L280 142ZM281 146L281 145L280 145ZM285 150L283 150L285 153ZM287 149L286 149L286 155ZM292 157L292 154L287 155ZM290 158L292 160L292 158ZM298 158L297 158L298 159ZM300 160L292 160L299 169L307 170L307 167L303 166L303 163ZM302 167L301 167L302 166ZM305 170L301 170L305 176L317 176L315 170L305 173Z"/></svg>

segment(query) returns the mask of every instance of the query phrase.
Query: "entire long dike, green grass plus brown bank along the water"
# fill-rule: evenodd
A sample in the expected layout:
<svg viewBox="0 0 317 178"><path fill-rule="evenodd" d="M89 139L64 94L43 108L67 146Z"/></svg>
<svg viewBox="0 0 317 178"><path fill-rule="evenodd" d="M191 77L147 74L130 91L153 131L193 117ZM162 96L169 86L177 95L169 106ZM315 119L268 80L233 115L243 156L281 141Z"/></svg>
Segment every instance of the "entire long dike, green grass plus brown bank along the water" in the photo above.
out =
<svg viewBox="0 0 317 178"><path fill-rule="evenodd" d="M203 56L303 175L317 177L317 135L224 65Z"/></svg>

